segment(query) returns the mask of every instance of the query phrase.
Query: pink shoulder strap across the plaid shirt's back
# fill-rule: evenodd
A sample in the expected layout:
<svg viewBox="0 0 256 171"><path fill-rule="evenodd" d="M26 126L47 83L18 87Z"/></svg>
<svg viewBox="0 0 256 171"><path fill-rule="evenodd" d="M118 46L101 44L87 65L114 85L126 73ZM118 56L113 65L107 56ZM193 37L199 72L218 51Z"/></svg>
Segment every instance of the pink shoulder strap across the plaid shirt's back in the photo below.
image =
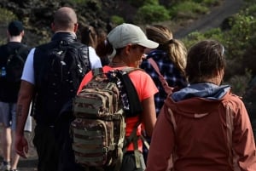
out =
<svg viewBox="0 0 256 171"><path fill-rule="evenodd" d="M148 59L148 62L150 63L151 66L153 66L154 71L157 72L159 76L160 83L162 84L163 88L165 89L166 94L170 95L172 94L172 87L169 86L169 84L166 82L165 77L160 73L159 67L155 63L155 61L152 58Z"/></svg>

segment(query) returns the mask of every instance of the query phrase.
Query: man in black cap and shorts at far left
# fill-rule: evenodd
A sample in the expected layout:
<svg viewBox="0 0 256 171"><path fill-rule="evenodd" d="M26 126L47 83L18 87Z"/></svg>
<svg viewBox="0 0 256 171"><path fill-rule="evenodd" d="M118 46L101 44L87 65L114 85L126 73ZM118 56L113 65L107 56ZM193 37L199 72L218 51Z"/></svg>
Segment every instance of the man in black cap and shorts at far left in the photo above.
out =
<svg viewBox="0 0 256 171"><path fill-rule="evenodd" d="M2 123L3 162L0 170L16 170L19 155L15 152L16 103L20 89L20 76L30 48L21 43L25 31L19 20L9 23L9 42L0 47L0 122ZM20 58L20 59L18 59ZM20 63L19 63L20 62ZM18 67L16 67L18 66ZM14 72L20 73L17 76ZM31 118L28 117L28 122Z"/></svg>

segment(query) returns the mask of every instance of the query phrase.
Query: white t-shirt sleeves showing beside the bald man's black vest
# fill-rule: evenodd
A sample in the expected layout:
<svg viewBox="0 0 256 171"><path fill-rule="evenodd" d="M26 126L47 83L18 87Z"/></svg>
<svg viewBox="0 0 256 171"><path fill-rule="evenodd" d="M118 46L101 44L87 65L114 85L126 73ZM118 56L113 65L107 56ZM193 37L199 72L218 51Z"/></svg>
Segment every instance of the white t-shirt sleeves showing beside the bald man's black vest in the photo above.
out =
<svg viewBox="0 0 256 171"><path fill-rule="evenodd" d="M25 80L26 82L35 84L34 77L34 66L33 66L33 56L35 53L35 48L32 48L29 54L27 55L27 59L25 62L25 66L23 69L21 80ZM94 48L89 47L89 60L91 69L102 67L101 59L96 54Z"/></svg>

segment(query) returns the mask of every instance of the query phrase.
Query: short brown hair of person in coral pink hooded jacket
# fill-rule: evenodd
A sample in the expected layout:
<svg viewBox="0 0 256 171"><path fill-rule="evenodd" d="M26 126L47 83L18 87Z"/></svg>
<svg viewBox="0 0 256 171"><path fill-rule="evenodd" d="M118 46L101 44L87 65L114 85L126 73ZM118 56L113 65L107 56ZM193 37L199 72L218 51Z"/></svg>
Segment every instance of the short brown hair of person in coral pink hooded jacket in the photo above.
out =
<svg viewBox="0 0 256 171"><path fill-rule="evenodd" d="M186 74L190 83L201 83L224 70L224 46L215 40L204 40L189 48Z"/></svg>

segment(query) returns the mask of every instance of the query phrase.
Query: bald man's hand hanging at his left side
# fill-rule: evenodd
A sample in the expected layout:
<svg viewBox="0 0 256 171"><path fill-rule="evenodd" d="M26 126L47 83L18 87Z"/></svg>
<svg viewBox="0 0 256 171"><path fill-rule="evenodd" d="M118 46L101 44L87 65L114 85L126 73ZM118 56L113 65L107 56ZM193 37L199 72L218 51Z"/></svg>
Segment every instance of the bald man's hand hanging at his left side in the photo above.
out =
<svg viewBox="0 0 256 171"><path fill-rule="evenodd" d="M20 157L27 158L26 154L28 152L28 144L24 135L15 135L15 151L20 155Z"/></svg>

